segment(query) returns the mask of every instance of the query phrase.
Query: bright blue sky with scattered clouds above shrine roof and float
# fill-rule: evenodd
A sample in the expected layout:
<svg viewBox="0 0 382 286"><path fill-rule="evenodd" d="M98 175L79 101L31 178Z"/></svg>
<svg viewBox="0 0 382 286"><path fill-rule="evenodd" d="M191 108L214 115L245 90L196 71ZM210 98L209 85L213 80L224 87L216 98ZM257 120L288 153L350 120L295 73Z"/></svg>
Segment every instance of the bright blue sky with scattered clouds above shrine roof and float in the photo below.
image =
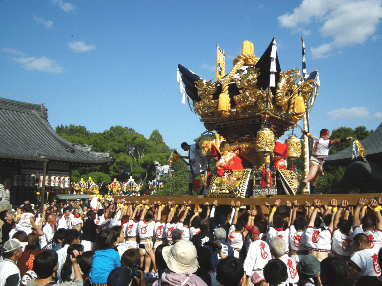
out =
<svg viewBox="0 0 382 286"><path fill-rule="evenodd" d="M240 3L240 4L238 4ZM45 103L49 122L91 132L158 129L171 148L204 126L181 104L178 64L215 80L244 40L261 56L273 37L282 71L319 71L311 133L382 121L382 0L0 2L0 97ZM73 37L72 37L73 35ZM302 122L300 124L302 126ZM295 130L300 134L299 130ZM290 132L287 132L290 133Z"/></svg>

